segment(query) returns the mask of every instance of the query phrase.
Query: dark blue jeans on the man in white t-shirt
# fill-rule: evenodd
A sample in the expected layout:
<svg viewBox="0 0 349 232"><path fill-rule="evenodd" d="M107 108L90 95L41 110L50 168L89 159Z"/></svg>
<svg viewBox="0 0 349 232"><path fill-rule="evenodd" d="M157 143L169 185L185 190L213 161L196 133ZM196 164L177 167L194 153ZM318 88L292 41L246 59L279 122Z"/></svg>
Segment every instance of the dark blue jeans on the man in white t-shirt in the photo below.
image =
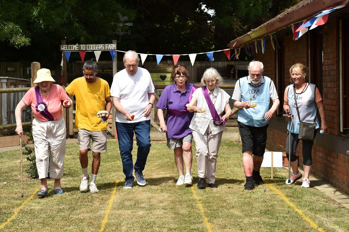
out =
<svg viewBox="0 0 349 232"><path fill-rule="evenodd" d="M147 157L150 151L150 120L136 123L119 123L116 122L116 132L118 134L119 149L122 161L122 167L126 176L125 180L134 180L132 149L133 134L136 135L137 141L137 160L134 164L136 172L142 172L146 166Z"/></svg>

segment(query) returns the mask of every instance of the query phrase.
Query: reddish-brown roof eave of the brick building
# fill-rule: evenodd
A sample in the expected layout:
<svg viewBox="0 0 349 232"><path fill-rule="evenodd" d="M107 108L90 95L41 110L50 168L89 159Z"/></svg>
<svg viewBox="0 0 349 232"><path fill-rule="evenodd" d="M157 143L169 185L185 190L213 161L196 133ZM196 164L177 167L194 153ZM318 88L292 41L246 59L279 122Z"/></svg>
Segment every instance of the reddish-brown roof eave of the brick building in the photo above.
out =
<svg viewBox="0 0 349 232"><path fill-rule="evenodd" d="M257 38L262 38L267 34L274 33L286 26L289 26L292 23L299 22L313 16L314 14L319 13L322 10L328 9L331 6L338 5L343 2L343 0L317 0L310 2L309 4L300 7L299 9L292 11L290 14L287 14L271 23L266 24L263 27L256 28L251 32L244 34L243 36L232 40L228 46L230 48L238 48L244 44L252 42Z"/></svg>

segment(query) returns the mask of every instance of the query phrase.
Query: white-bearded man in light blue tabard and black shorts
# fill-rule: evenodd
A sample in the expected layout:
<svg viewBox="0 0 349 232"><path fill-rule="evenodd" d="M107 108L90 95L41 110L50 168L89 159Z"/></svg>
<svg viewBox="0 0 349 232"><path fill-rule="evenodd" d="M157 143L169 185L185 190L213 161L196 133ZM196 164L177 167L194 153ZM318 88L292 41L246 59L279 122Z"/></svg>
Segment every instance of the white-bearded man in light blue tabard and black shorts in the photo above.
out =
<svg viewBox="0 0 349 232"><path fill-rule="evenodd" d="M232 99L235 100L234 106L239 109L238 127L246 176L244 187L245 190L253 190L254 183L264 184L259 170L267 142L267 128L280 101L273 81L262 76L262 62L250 62L248 74L236 82ZM273 105L269 109L270 99Z"/></svg>

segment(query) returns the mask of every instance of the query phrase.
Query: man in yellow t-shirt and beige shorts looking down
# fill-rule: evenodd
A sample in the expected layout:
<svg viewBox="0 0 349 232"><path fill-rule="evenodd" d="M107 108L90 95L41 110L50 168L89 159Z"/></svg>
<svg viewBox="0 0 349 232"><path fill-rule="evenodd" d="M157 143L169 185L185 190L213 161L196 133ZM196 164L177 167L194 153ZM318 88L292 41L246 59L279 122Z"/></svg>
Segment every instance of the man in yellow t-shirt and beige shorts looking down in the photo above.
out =
<svg viewBox="0 0 349 232"><path fill-rule="evenodd" d="M99 164L101 163L101 152L106 152L107 148L107 124L97 117L99 110L105 109L110 114L112 102L110 98L110 88L108 83L96 77L98 73L95 59L86 61L82 68L83 77L76 78L66 87L69 95L75 95L76 113L74 128L77 129L77 139L80 147L80 164L82 169L82 179L80 191L98 193L95 184ZM107 117L109 117L109 114ZM92 174L91 182L88 175L88 151L91 150L90 140L92 139Z"/></svg>

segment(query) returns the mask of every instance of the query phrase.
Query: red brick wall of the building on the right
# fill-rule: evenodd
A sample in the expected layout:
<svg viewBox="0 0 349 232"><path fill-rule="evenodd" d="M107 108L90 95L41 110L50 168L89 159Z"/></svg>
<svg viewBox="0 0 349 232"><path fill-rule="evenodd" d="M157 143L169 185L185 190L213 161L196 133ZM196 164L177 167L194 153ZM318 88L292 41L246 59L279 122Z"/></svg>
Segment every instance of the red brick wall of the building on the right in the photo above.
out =
<svg viewBox="0 0 349 232"><path fill-rule="evenodd" d="M326 122L329 127L329 133L338 134L339 132L339 41L337 18L329 18L328 22L322 27L323 39L323 102L326 113ZM307 32L309 33L309 32ZM289 68L294 63L308 63L308 35L304 34L297 41L292 41L292 33L288 29L281 34L278 39L284 41L284 59L285 63L285 86L290 84ZM267 39L265 54L254 54L256 60L264 64L264 75L273 79L276 84L275 70L275 51L273 50L270 39ZM282 90L281 92L283 92ZM279 96L280 104L283 104L283 96ZM267 149L275 151L284 151L286 144L286 125L281 120L285 118L273 118L268 128ZM318 134L318 136L325 136ZM299 166L303 166L302 141L297 147L299 154ZM349 193L349 157L346 154L335 153L314 144L312 149L313 167L311 173L327 181L340 190Z"/></svg>

